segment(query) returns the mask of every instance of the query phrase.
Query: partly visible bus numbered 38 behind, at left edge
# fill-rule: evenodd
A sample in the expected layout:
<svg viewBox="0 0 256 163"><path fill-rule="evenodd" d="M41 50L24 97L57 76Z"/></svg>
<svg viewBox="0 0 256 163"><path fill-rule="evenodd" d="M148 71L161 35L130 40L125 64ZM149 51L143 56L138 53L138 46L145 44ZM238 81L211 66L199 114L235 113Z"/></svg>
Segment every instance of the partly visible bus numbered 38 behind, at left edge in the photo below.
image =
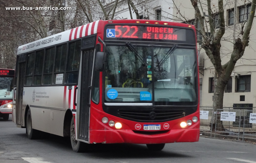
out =
<svg viewBox="0 0 256 163"><path fill-rule="evenodd" d="M0 117L9 120L12 114L14 70L0 69Z"/></svg>

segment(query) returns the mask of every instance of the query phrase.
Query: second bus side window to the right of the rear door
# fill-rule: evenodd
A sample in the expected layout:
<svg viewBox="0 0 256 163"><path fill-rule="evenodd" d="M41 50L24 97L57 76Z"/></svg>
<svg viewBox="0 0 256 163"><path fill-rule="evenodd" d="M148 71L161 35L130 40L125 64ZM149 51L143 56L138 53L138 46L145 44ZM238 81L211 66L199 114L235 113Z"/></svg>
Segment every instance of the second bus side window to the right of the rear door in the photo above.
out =
<svg viewBox="0 0 256 163"><path fill-rule="evenodd" d="M35 68L34 68L34 78L33 85L41 85L42 71L43 71L43 60L44 60L44 50L41 50L35 55Z"/></svg>

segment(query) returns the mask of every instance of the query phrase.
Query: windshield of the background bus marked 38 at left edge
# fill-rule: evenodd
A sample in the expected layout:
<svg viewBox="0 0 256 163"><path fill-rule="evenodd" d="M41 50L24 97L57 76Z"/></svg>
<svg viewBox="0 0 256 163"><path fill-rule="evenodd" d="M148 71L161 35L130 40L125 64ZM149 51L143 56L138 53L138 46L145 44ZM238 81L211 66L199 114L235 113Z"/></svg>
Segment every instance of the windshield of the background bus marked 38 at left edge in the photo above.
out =
<svg viewBox="0 0 256 163"><path fill-rule="evenodd" d="M13 77L0 77L0 100L12 99Z"/></svg>

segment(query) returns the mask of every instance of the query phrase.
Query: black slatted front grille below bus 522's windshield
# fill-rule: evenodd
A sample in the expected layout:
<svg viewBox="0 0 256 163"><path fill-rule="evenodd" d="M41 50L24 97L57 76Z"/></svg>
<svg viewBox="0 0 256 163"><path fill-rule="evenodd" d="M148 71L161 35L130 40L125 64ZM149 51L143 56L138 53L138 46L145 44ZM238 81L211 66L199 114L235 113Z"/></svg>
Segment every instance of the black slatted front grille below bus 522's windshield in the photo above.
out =
<svg viewBox="0 0 256 163"><path fill-rule="evenodd" d="M183 110L170 110L170 109L145 109L145 110L126 110L119 109L118 113L122 117L133 120L144 121L161 121L185 116Z"/></svg>

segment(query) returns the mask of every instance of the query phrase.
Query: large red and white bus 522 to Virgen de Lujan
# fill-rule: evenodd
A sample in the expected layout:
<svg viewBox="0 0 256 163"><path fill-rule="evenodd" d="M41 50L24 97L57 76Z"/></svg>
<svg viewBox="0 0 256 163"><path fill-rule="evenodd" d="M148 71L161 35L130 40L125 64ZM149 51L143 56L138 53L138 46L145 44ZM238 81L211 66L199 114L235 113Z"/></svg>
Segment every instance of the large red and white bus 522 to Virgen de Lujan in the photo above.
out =
<svg viewBox="0 0 256 163"><path fill-rule="evenodd" d="M75 152L199 140L193 25L98 20L20 46L16 71L14 121L29 139L70 137Z"/></svg>

